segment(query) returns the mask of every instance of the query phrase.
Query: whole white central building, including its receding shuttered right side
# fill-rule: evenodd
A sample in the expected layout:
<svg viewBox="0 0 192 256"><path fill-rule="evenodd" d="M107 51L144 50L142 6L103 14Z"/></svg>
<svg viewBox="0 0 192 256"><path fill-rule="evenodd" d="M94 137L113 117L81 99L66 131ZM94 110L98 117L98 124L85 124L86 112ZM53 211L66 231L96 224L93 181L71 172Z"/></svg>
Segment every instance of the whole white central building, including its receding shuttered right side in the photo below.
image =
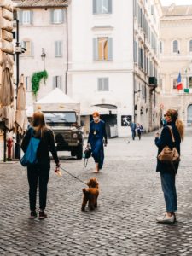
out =
<svg viewBox="0 0 192 256"><path fill-rule="evenodd" d="M125 119L157 128L159 1L72 0L68 14L68 94L81 103L85 130L96 107L105 109L108 136L114 127L119 137L130 134Z"/></svg>

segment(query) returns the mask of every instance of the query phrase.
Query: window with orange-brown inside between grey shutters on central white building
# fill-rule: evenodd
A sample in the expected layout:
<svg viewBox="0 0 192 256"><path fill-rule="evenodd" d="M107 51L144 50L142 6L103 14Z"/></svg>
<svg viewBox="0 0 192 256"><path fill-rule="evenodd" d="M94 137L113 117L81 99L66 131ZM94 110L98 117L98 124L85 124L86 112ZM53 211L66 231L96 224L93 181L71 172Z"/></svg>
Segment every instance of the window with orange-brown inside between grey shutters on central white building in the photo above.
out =
<svg viewBox="0 0 192 256"><path fill-rule="evenodd" d="M113 38L93 39L93 59L95 61L113 60Z"/></svg>

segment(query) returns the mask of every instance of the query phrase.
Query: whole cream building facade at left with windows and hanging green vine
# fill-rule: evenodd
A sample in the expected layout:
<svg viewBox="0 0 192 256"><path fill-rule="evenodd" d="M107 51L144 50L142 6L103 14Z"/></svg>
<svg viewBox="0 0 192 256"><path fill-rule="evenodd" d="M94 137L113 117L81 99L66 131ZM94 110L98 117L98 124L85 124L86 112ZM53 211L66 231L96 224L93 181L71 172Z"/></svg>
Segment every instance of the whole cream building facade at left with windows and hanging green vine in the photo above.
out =
<svg viewBox="0 0 192 256"><path fill-rule="evenodd" d="M17 7L20 45L20 74L25 76L27 107L55 87L66 91L67 1L13 1ZM32 75L48 73L41 79L37 96L32 90Z"/></svg>

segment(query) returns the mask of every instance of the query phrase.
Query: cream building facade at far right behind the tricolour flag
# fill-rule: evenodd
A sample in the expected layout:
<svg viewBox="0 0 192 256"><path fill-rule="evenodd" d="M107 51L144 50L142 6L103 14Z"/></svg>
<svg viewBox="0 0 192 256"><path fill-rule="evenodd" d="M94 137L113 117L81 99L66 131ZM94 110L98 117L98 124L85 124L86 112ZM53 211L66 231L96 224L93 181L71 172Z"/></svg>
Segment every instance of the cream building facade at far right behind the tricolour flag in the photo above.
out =
<svg viewBox="0 0 192 256"><path fill-rule="evenodd" d="M175 108L185 125L192 125L192 6L163 7L160 19L161 104ZM181 73L183 90L177 90Z"/></svg>

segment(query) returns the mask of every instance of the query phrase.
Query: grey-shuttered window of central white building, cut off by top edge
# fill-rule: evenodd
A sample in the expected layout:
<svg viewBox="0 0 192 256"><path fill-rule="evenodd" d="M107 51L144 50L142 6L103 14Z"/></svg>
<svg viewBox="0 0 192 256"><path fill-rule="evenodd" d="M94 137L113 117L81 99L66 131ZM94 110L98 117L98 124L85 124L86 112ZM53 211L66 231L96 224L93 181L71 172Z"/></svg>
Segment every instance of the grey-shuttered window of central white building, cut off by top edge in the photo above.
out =
<svg viewBox="0 0 192 256"><path fill-rule="evenodd" d="M93 14L111 14L112 0L93 0Z"/></svg>

